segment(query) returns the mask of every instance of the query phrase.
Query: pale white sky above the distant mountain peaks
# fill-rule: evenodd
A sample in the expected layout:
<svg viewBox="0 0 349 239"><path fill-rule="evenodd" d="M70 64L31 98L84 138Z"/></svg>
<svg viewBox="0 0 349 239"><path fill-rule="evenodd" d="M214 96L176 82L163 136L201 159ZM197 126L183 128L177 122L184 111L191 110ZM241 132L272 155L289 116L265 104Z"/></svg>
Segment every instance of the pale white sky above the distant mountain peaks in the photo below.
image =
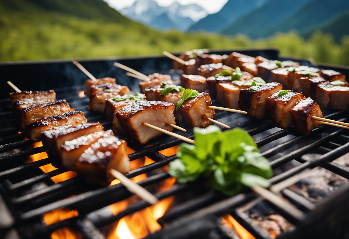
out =
<svg viewBox="0 0 349 239"><path fill-rule="evenodd" d="M135 0L104 0L110 6L121 9L124 7L131 6ZM173 2L179 2L181 5L188 5L190 3L196 3L201 7L205 8L209 14L218 12L228 0L155 0L158 5L166 7L171 5Z"/></svg>

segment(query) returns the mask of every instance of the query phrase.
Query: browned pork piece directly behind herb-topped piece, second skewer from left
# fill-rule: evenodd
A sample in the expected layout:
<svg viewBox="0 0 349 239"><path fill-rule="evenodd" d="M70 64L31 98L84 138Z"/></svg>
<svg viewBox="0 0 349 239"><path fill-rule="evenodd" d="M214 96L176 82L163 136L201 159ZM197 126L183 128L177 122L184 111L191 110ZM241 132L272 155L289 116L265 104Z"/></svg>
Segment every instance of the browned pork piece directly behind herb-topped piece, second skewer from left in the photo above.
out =
<svg viewBox="0 0 349 239"><path fill-rule="evenodd" d="M117 95L125 95L129 93L130 93L130 90L128 89L127 86L116 85L115 88L105 89L102 92L91 96L88 110L104 113L106 99L110 99Z"/></svg>

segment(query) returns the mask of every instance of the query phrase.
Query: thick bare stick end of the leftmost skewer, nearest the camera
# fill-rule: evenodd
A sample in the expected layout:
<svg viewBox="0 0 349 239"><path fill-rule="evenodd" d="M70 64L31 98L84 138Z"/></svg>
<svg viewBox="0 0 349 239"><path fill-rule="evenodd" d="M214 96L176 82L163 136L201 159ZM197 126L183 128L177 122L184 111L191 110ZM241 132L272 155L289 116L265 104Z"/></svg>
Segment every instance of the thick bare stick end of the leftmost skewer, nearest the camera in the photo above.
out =
<svg viewBox="0 0 349 239"><path fill-rule="evenodd" d="M129 191L138 195L144 201L146 201L152 205L159 202L159 200L153 194L149 193L149 191L147 189L139 186L139 184L133 182L131 179L127 178L124 174L120 173L119 171L116 171L113 168L111 168L109 172L116 179L120 180L122 185L124 185Z"/></svg>

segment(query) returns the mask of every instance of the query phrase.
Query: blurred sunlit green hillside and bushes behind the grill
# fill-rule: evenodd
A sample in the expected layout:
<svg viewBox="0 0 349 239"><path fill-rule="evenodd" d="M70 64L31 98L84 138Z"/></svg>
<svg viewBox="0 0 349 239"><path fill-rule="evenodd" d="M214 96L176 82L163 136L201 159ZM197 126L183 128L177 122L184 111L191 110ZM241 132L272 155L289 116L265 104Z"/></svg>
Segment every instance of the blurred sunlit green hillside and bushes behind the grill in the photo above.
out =
<svg viewBox="0 0 349 239"><path fill-rule="evenodd" d="M0 61L157 55L163 50L183 52L195 48L275 47L280 49L282 56L349 65L349 36L342 37L337 43L331 34L320 31L306 39L291 31L257 40L244 35L161 32L121 15L115 19L81 17L80 12L62 14L43 11L34 5L24 8L5 2L3 6L0 4Z"/></svg>

